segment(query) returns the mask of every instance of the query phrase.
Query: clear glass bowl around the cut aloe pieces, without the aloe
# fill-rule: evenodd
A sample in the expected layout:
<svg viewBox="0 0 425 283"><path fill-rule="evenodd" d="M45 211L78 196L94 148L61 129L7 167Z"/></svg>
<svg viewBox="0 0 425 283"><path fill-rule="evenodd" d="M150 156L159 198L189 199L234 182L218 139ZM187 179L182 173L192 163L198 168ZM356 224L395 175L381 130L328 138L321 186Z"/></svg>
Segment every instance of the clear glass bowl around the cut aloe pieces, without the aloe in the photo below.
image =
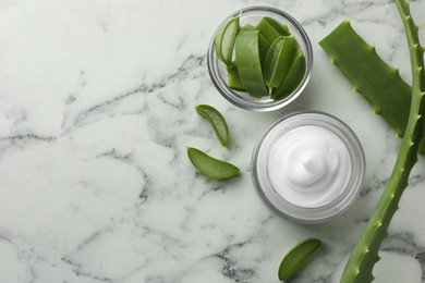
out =
<svg viewBox="0 0 425 283"><path fill-rule="evenodd" d="M303 51L305 57L306 70L305 70L304 77L300 83L299 87L295 90L293 90L292 94L277 101L272 100L270 97L263 97L258 99L250 96L247 93L235 91L233 89L230 89L228 86L228 73L226 66L217 58L216 52L214 50L214 39L216 38L216 34L217 34L216 30L216 33L212 36L211 42L209 44L208 54L207 54L208 72L209 72L209 76L211 77L212 84L216 86L218 91L227 100L229 100L231 103L242 109L258 111L258 112L280 109L289 104L298 96L300 96L308 83L309 75L312 72L312 66L313 66L313 50L312 50L312 45L309 42L308 36L303 29L303 27L300 25L300 23L296 22L295 19L293 19L291 15L289 15L288 13L279 9L275 9L270 7L250 7L250 8L244 8L242 10L235 11L234 13L229 15L229 17L233 17L239 14L241 15L240 17L241 25L245 25L247 23L255 25L260 19L265 16L272 17L279 23L287 24L290 32L296 38L296 41L299 42L301 50ZM224 21L226 20L227 19L224 19ZM221 24L219 26L221 26Z"/></svg>

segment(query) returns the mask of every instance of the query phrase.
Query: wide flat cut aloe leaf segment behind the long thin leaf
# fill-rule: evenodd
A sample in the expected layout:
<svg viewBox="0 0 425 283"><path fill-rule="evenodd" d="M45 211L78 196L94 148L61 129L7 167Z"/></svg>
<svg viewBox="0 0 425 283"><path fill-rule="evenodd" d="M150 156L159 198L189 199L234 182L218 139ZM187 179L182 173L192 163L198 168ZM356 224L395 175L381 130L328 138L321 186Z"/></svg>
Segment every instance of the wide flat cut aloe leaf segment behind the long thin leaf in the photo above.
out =
<svg viewBox="0 0 425 283"><path fill-rule="evenodd" d="M354 32L349 21L342 22L319 45L375 113L403 136L412 89L400 77L399 71L384 62L375 48Z"/></svg>

